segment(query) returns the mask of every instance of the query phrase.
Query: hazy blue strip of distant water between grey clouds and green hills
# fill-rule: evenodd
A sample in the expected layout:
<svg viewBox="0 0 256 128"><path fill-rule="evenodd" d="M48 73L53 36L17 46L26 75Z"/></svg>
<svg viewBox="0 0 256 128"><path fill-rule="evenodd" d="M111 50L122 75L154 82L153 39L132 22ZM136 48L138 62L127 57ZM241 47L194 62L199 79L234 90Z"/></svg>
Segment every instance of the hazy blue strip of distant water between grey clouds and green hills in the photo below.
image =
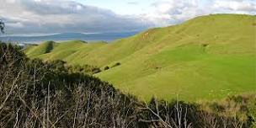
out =
<svg viewBox="0 0 256 128"><path fill-rule="evenodd" d="M112 41L136 35L138 32L122 33L59 33L40 35L0 35L0 40L19 44L38 44L46 40L84 40L84 41Z"/></svg>

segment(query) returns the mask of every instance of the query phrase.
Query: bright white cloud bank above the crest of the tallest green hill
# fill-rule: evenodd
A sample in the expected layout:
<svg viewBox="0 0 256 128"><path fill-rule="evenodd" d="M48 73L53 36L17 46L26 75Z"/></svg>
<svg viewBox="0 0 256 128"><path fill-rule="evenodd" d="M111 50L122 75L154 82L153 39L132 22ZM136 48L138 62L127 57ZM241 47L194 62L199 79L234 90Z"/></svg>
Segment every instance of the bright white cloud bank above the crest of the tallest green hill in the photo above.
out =
<svg viewBox="0 0 256 128"><path fill-rule="evenodd" d="M254 0L159 0L154 11L141 15L156 26L177 24L196 16L210 13L256 14Z"/></svg>

